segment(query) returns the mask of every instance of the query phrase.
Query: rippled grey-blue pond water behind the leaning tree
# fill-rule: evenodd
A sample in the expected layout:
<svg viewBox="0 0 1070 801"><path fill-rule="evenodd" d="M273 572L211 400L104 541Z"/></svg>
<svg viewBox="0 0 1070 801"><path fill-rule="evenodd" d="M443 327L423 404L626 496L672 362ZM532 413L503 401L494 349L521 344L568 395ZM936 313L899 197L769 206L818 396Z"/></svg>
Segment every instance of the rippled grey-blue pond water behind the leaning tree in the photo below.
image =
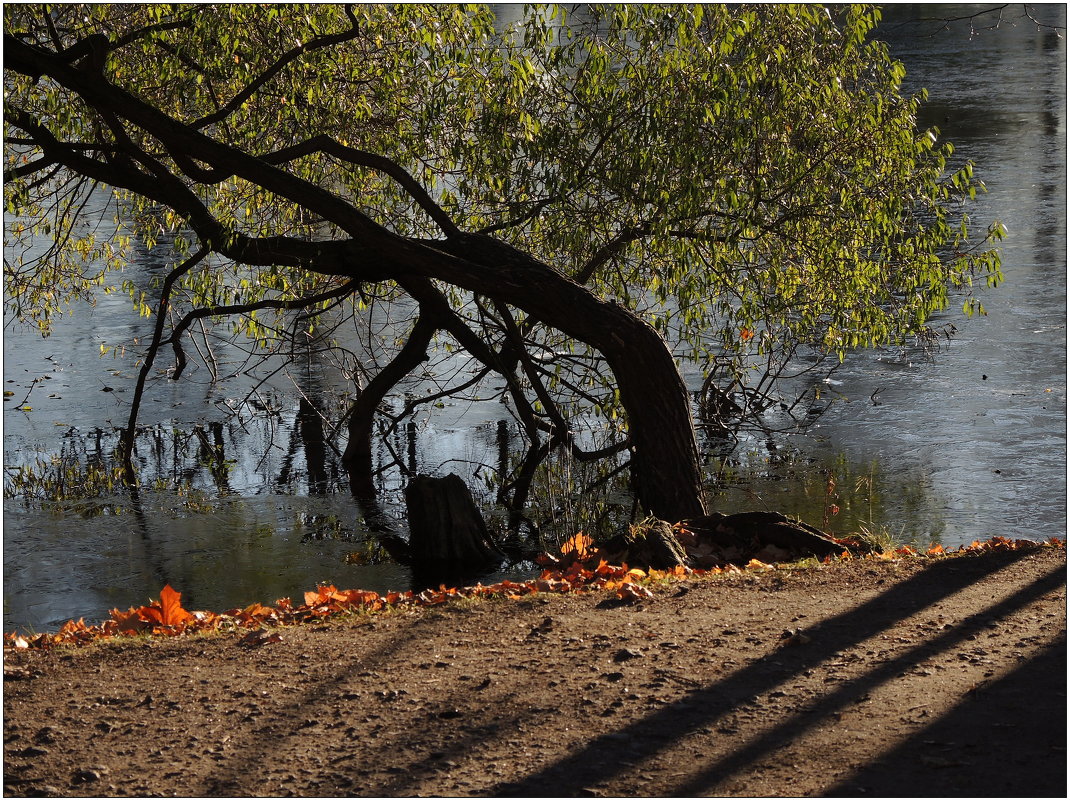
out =
<svg viewBox="0 0 1070 801"><path fill-rule="evenodd" d="M1065 6L1033 7L1065 25ZM929 17L960 12L924 6ZM938 315L934 324L953 324L958 336L934 357L853 355L835 383L820 386L831 402L809 434L744 441L728 456L709 443L710 500L729 511L778 509L835 532L885 528L919 544L1064 536L1066 42L1025 20L973 38L966 24L935 34L903 25L911 13L886 9L883 36L906 63L910 86L929 89L922 123L937 125L957 143L956 158L973 159L988 184L970 214L1008 227L1006 282L983 296L985 318ZM153 269L148 256L132 265L146 284ZM101 359L100 344L143 334L122 296L79 308L48 339L5 328L4 388L14 392L5 465L48 460L61 448L82 462L108 452L136 368L131 357ZM151 388L138 458L202 493L203 511L192 511L188 496L160 492L143 492L139 504L116 496L78 508L5 499L4 630L98 619L156 597L165 581L190 606L217 610L300 597L318 582L407 587L407 569L379 561L353 502L334 491L345 484L334 455L305 453L295 385L323 399L346 389L330 369L295 368L259 388L257 402L270 413L235 421L229 409L251 386L242 378L215 384L204 367L190 368L180 383ZM31 386L32 412L7 409ZM408 389L422 392L419 379ZM395 432L378 458L392 451L414 468L457 472L478 490L480 477L501 468L503 420L511 426L498 403L446 404ZM386 511L399 517L397 472L379 480ZM557 534L584 524L575 486L544 493ZM618 500L628 511L627 498Z"/></svg>

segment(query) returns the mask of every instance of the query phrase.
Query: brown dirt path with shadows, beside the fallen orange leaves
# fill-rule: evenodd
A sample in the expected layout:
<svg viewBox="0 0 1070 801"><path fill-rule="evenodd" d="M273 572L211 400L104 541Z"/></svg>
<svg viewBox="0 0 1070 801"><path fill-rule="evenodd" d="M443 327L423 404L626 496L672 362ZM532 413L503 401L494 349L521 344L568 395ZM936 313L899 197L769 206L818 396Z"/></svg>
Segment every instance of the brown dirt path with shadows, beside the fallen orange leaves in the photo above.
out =
<svg viewBox="0 0 1070 801"><path fill-rule="evenodd" d="M799 630L793 637L782 635ZM7 652L5 795L1058 796L1066 554ZM5 673L6 673L5 672Z"/></svg>

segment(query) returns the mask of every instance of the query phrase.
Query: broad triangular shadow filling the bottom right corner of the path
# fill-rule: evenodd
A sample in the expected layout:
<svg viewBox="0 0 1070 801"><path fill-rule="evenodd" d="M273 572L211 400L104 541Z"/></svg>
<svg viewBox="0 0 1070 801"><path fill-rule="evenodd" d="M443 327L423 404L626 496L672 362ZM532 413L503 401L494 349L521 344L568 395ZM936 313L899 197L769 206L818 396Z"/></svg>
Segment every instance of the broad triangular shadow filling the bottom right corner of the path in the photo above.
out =
<svg viewBox="0 0 1070 801"><path fill-rule="evenodd" d="M1067 795L1067 643L1044 648L1002 679L840 781L827 796L949 798Z"/></svg>

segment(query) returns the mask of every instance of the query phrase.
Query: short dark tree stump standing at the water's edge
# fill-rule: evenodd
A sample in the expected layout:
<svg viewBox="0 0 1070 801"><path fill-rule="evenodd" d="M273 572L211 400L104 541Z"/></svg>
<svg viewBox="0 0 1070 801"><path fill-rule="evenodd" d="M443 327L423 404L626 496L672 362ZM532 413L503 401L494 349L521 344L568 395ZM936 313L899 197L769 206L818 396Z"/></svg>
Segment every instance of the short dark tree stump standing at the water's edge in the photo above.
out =
<svg viewBox="0 0 1070 801"><path fill-rule="evenodd" d="M415 476L404 492L413 564L472 570L501 564L487 523L460 476Z"/></svg>

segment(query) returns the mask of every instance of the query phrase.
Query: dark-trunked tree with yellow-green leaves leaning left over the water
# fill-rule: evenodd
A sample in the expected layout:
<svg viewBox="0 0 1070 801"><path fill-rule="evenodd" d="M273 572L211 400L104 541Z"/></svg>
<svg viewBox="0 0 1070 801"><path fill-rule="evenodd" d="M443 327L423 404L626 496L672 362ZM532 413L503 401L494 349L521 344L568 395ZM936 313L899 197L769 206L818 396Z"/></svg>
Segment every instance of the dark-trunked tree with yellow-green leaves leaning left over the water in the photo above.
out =
<svg viewBox="0 0 1070 801"><path fill-rule="evenodd" d="M875 10L517 16L4 6L9 310L47 328L135 244L171 249L158 296L135 292L155 326L127 465L158 351L178 380L195 324L271 352L395 304L407 338L337 427L354 491L383 399L438 340L500 376L525 464L626 452L639 504L679 520L703 499L677 358L731 426L800 352L918 336L957 288L968 310L998 280L998 229L972 241L956 207L979 184L917 129ZM120 225L94 238L103 191ZM616 441L583 452L580 411Z"/></svg>

